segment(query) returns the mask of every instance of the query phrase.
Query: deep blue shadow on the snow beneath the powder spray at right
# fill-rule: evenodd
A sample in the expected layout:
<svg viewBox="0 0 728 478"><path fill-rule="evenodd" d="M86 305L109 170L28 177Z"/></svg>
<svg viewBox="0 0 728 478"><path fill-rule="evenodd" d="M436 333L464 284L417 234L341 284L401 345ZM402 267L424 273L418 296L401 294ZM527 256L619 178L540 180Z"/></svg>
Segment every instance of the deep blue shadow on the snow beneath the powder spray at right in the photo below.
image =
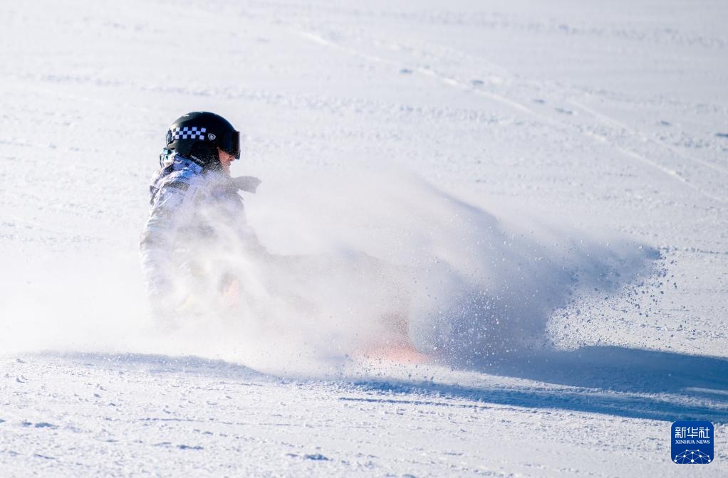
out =
<svg viewBox="0 0 728 478"><path fill-rule="evenodd" d="M485 373L542 384L459 386L360 381L387 394L432 395L498 405L555 408L662 421L728 423L728 360L622 347L539 352L492 365ZM376 398L375 400L391 400ZM440 400L441 405L448 403ZM457 405L462 406L462 405Z"/></svg>

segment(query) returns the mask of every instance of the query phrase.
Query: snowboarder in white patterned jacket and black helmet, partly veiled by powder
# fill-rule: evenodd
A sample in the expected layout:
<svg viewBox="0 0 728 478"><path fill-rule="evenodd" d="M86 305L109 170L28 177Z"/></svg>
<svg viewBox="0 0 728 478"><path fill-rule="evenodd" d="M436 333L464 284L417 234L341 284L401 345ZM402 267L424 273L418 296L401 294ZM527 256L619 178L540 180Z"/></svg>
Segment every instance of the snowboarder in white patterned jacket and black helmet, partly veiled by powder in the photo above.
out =
<svg viewBox="0 0 728 478"><path fill-rule="evenodd" d="M230 177L237 159L240 132L215 113L188 113L167 131L160 169L149 184L151 208L140 243L155 312L169 317L191 299L229 294L237 279L226 269L225 255L237 248L261 251L238 194L254 193L260 181Z"/></svg>

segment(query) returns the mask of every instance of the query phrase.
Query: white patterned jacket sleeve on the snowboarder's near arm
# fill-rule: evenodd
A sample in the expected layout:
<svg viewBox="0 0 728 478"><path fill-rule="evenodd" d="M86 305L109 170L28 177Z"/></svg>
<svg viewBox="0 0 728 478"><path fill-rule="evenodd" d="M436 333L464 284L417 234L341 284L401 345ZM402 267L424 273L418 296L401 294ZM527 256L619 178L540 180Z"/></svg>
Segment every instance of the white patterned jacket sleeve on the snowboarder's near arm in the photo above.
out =
<svg viewBox="0 0 728 478"><path fill-rule="evenodd" d="M139 252L146 293L153 297L173 291L173 246L178 230L191 221L198 188L174 179L157 192L141 234Z"/></svg>

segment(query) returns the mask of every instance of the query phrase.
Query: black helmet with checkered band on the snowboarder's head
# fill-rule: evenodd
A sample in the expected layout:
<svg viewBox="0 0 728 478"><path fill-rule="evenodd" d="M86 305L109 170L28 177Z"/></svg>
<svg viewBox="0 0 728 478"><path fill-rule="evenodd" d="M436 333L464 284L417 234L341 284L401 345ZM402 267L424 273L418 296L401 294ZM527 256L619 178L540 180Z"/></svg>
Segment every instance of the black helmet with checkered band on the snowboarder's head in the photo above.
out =
<svg viewBox="0 0 728 478"><path fill-rule="evenodd" d="M187 113L177 118L167 131L168 150L175 150L189 158L195 145L207 145L207 148L202 149L214 150L215 158L217 149L210 145L215 145L240 159L240 131L235 131L229 121L215 113L207 111ZM194 149L199 150L199 146Z"/></svg>

